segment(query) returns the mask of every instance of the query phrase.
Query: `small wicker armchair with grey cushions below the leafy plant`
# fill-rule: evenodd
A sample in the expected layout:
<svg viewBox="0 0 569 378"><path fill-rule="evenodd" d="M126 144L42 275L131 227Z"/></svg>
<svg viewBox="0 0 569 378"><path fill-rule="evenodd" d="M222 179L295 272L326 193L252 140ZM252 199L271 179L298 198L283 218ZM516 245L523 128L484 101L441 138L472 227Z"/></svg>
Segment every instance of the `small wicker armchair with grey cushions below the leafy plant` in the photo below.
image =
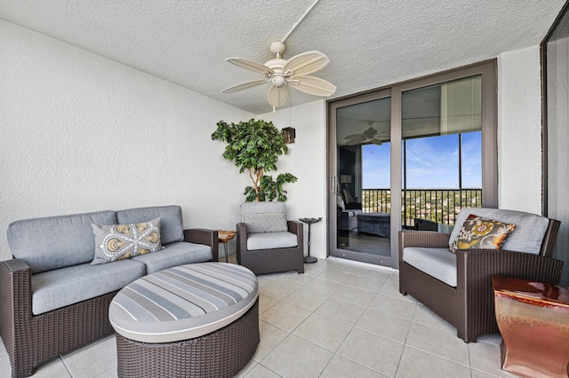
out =
<svg viewBox="0 0 569 378"><path fill-rule="evenodd" d="M236 226L237 263L255 274L304 273L303 227L301 222L287 221L285 209L284 202L241 205L241 222Z"/></svg>

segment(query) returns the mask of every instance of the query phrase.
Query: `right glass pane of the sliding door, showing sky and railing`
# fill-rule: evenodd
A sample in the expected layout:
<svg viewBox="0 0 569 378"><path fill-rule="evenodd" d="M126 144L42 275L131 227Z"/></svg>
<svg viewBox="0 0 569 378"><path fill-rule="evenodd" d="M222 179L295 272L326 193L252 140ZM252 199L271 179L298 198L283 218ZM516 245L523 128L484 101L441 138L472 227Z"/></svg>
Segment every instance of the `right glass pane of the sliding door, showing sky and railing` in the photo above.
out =
<svg viewBox="0 0 569 378"><path fill-rule="evenodd" d="M482 79L401 96L405 228L450 233L461 208L482 206Z"/></svg>

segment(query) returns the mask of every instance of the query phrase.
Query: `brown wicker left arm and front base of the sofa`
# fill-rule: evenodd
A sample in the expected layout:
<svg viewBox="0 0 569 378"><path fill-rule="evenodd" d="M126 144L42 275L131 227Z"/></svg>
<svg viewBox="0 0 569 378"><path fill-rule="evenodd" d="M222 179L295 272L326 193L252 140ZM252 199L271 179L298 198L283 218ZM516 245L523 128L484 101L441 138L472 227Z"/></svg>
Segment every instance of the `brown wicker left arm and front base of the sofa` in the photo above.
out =
<svg viewBox="0 0 569 378"><path fill-rule="evenodd" d="M117 292L34 316L30 277L23 261L0 262L0 331L13 378L27 377L58 355L114 332L108 322L108 305Z"/></svg>

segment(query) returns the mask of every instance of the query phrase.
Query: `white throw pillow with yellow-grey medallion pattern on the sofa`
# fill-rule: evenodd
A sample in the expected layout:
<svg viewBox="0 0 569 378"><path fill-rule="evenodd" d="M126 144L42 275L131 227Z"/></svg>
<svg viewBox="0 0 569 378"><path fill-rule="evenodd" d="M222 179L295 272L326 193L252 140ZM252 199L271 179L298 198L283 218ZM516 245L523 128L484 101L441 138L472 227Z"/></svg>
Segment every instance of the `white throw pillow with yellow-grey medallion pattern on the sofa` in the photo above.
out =
<svg viewBox="0 0 569 378"><path fill-rule="evenodd" d="M136 224L92 224L95 258L92 265L112 263L162 249L160 218Z"/></svg>

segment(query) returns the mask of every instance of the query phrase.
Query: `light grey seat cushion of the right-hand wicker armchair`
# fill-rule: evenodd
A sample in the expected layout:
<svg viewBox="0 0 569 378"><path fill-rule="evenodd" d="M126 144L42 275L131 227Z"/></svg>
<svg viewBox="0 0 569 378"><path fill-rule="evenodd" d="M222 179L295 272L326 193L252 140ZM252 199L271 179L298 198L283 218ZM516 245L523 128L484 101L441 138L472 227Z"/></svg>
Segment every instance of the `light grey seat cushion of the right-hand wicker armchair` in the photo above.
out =
<svg viewBox="0 0 569 378"><path fill-rule="evenodd" d="M403 249L403 261L456 287L456 255L448 248L407 247Z"/></svg>

